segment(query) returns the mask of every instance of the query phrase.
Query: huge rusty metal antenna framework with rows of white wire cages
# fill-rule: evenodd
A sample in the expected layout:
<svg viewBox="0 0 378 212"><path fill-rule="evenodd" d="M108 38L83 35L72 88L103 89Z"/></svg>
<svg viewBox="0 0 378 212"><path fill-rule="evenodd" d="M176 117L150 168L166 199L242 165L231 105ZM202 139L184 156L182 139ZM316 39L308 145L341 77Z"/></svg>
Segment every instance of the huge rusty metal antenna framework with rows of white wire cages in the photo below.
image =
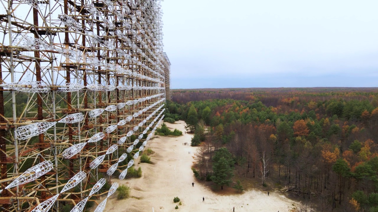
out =
<svg viewBox="0 0 378 212"><path fill-rule="evenodd" d="M160 1L0 1L0 207L81 212L164 118Z"/></svg>

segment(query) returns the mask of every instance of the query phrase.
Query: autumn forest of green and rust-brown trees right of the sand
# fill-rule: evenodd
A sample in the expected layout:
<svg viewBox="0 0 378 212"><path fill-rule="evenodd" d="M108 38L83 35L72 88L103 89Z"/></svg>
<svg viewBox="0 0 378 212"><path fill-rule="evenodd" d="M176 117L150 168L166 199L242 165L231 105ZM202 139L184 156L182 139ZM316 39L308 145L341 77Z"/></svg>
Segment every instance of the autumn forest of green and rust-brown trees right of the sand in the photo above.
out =
<svg viewBox="0 0 378 212"><path fill-rule="evenodd" d="M194 133L200 179L226 149L240 177L274 176L320 211L378 212L377 88L180 89L166 107Z"/></svg>

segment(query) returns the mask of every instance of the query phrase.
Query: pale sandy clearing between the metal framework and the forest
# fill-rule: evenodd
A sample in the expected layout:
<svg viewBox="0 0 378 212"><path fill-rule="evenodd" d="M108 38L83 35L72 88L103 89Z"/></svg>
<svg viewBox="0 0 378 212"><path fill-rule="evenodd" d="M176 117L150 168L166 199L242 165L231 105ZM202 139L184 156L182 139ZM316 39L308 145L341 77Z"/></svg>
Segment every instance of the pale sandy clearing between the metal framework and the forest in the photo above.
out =
<svg viewBox="0 0 378 212"><path fill-rule="evenodd" d="M185 122L166 124L169 128L183 131ZM292 204L296 204L274 192L271 192L270 196L257 190L248 190L235 195L218 195L196 183L191 166L197 147L183 145L184 142L190 143L192 136L191 134L180 137L155 136L150 140L147 148L155 151L155 154L151 155L155 164L136 164L136 168L139 166L142 168L141 178L113 179L113 182L129 186L132 189L132 197L117 200L116 195L113 195L104 211L149 212L153 208L155 212L232 212L232 207L235 206L236 212L286 212L293 207ZM195 183L194 187L192 182ZM183 203L177 210L175 206L178 203L173 202L174 197L179 197ZM204 202L202 197L205 198Z"/></svg>

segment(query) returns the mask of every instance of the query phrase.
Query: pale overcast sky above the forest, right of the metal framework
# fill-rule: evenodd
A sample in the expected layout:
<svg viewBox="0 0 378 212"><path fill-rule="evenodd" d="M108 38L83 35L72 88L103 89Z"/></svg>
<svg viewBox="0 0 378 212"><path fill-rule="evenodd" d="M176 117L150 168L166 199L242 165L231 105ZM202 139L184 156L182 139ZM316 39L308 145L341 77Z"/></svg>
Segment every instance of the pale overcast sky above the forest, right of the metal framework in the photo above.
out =
<svg viewBox="0 0 378 212"><path fill-rule="evenodd" d="M378 87L377 0L164 0L171 88Z"/></svg>

